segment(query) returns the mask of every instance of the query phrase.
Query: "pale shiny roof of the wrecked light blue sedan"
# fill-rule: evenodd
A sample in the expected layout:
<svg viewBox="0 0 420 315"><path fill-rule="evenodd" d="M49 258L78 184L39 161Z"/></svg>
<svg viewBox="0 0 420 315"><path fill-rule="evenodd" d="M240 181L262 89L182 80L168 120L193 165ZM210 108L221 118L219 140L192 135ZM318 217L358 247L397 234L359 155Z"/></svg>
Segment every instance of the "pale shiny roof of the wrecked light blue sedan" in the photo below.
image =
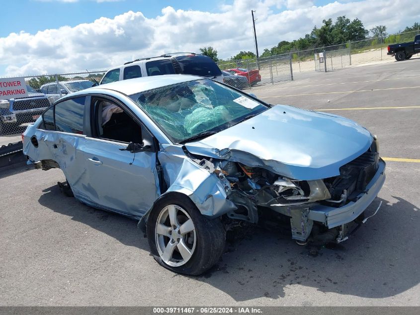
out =
<svg viewBox="0 0 420 315"><path fill-rule="evenodd" d="M184 74L167 74L162 76L151 76L151 77L141 77L135 79L128 79L128 80L121 80L112 83L101 84L97 87L88 88L79 92L75 92L75 94L83 94L89 92L89 90L98 90L98 89L105 89L105 90L113 90L125 95L132 95L141 92L145 92L148 90L153 90L161 87L166 87L168 85L194 81L199 79L206 79L199 76L191 76L191 75L184 75Z"/></svg>

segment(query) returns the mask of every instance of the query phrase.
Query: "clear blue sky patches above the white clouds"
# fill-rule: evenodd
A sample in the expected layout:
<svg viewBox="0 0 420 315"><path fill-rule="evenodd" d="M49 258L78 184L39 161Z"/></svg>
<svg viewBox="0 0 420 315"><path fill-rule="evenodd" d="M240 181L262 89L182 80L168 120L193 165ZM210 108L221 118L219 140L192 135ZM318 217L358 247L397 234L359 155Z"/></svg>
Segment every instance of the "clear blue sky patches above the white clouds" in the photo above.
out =
<svg viewBox="0 0 420 315"><path fill-rule="evenodd" d="M357 0L356 0L357 1ZM231 4L233 1L203 1L203 0L120 0L96 2L95 0L80 0L63 2L55 0L14 0L7 1L7 11L16 14L2 14L0 37L22 30L36 33L39 30L58 28L69 25L76 26L89 23L104 16L112 18L129 10L141 11L146 17L152 18L161 14L163 7L172 6L175 9L200 10L207 12L219 11L219 5ZM325 5L331 0L316 0L315 5ZM345 1L344 1L345 2ZM273 7L274 12L286 9ZM256 13L257 14L257 13Z"/></svg>

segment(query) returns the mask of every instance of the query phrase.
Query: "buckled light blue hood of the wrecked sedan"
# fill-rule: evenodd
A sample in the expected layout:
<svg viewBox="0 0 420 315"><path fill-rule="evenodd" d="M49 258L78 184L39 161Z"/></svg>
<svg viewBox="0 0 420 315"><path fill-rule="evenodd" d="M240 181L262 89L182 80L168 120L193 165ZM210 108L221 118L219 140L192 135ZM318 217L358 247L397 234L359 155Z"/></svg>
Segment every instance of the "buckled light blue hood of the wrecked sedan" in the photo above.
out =
<svg viewBox="0 0 420 315"><path fill-rule="evenodd" d="M296 180L339 175L367 151L371 133L344 117L276 105L186 149L196 155L261 167Z"/></svg>

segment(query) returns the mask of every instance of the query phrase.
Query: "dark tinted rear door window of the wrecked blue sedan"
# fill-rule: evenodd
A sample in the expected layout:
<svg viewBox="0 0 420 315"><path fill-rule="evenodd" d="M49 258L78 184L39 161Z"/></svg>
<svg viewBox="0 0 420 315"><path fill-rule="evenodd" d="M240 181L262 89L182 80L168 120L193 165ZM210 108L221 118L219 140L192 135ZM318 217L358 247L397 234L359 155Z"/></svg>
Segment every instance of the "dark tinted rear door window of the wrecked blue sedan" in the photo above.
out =
<svg viewBox="0 0 420 315"><path fill-rule="evenodd" d="M85 97L70 99L55 105L57 131L83 134Z"/></svg>

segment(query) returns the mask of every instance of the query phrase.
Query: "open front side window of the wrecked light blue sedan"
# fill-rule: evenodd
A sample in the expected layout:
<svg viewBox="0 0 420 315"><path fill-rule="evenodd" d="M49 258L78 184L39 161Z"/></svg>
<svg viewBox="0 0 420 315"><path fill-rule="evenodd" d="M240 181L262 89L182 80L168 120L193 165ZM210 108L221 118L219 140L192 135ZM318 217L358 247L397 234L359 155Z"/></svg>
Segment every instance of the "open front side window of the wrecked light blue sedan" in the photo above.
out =
<svg viewBox="0 0 420 315"><path fill-rule="evenodd" d="M142 143L141 126L118 104L105 99L92 99L96 130L92 134L101 139Z"/></svg>

